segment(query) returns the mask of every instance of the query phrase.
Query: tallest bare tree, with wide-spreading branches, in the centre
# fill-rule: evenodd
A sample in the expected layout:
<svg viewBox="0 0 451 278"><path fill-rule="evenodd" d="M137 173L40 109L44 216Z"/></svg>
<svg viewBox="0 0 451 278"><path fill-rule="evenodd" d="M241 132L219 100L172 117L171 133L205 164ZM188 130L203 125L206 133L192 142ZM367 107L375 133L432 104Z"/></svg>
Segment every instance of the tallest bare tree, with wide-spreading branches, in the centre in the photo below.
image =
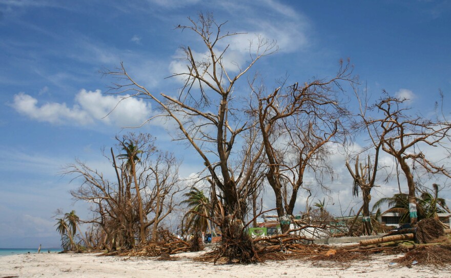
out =
<svg viewBox="0 0 451 278"><path fill-rule="evenodd" d="M150 92L139 85L122 64L117 71L105 73L122 81L115 84L112 92L150 98L163 111L163 115L176 123L180 131L176 140L186 142L201 157L206 176L211 178L212 185L219 189L223 198L224 215L230 215L229 220L242 222L247 194L252 193L249 187L256 186L251 178L259 153L253 152L252 144L258 144L256 134L251 136L250 145L243 146L244 155L233 152L234 148L239 149L236 145L240 143L237 142L243 142L240 136L249 133L255 126L243 116L240 103L234 101L235 96L239 97L239 94L235 95L234 88L260 58L274 53L277 47L275 42L258 37L257 43L251 45L249 63L244 67L236 64L237 73L231 75L224 57L229 48L227 39L239 34L222 32L224 24L217 24L210 14L200 14L197 21L191 18L189 21L190 25L179 25L177 28L190 31L200 38L203 45L200 53L206 54L196 54L199 52L189 46L181 48L185 54L186 71L172 76L182 78L185 85L177 97ZM261 149L257 148L260 152ZM223 222L223 237L228 234L226 226L234 222Z"/></svg>

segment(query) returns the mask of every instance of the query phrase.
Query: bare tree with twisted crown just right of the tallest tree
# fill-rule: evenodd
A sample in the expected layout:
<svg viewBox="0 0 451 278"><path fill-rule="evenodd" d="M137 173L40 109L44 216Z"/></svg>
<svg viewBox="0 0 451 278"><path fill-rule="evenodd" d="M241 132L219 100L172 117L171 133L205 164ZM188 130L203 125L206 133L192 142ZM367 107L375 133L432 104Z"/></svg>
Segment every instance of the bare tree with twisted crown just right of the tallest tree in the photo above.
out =
<svg viewBox="0 0 451 278"><path fill-rule="evenodd" d="M331 80L315 80L282 92L277 88L267 97L259 95L258 122L267 158L267 180L274 190L282 232L290 228L304 174L312 170L320 182L327 165L328 143L343 140L340 119L347 110L340 104L341 82L353 82L350 64L340 65ZM290 189L290 190L288 190ZM291 191L291 192L290 192Z"/></svg>

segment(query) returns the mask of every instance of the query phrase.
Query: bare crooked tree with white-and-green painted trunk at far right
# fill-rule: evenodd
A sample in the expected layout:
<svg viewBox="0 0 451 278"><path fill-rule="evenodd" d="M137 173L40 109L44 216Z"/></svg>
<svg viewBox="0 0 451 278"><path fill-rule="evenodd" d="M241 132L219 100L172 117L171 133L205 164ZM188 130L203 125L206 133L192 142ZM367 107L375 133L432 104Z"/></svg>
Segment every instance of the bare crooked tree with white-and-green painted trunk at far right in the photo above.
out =
<svg viewBox="0 0 451 278"><path fill-rule="evenodd" d="M448 167L439 162L431 161L421 151L424 146L440 147L449 153L450 148L445 145L451 139L451 124L443 114L434 120L422 115L408 114L409 108L405 99L385 96L372 107L372 111L382 116L368 116L361 113L365 129L370 135L372 143L381 145L382 150L392 155L399 163L408 188L408 202L411 224L417 222L416 189L414 171L422 170L426 174L442 174L451 177ZM443 100L442 100L443 102Z"/></svg>

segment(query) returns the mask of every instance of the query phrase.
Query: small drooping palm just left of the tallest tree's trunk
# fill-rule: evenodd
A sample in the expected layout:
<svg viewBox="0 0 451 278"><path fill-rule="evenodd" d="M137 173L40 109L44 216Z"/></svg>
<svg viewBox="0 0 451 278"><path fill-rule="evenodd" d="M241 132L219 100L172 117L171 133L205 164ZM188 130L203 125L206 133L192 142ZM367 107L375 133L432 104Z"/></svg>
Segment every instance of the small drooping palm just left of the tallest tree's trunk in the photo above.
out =
<svg viewBox="0 0 451 278"><path fill-rule="evenodd" d="M187 199L180 204L186 204L190 209L185 214L187 219L186 230L206 231L208 228L211 232L212 227L206 217L211 213L211 205L208 197L203 194L202 190L196 187L191 188L190 192L183 194L183 196L187 197Z"/></svg>

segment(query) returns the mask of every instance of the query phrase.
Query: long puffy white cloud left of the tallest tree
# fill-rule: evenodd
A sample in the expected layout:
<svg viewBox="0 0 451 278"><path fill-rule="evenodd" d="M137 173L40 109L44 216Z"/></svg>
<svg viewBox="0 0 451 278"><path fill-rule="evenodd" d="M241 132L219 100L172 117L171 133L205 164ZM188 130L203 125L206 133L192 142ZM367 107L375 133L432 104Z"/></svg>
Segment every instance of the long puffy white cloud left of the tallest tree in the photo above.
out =
<svg viewBox="0 0 451 278"><path fill-rule="evenodd" d="M20 114L32 120L51 124L93 125L105 123L119 127L138 126L151 114L151 107L130 95L104 95L100 90L82 89L75 96L75 104L46 103L38 105L38 100L23 92L14 95L10 105Z"/></svg>

